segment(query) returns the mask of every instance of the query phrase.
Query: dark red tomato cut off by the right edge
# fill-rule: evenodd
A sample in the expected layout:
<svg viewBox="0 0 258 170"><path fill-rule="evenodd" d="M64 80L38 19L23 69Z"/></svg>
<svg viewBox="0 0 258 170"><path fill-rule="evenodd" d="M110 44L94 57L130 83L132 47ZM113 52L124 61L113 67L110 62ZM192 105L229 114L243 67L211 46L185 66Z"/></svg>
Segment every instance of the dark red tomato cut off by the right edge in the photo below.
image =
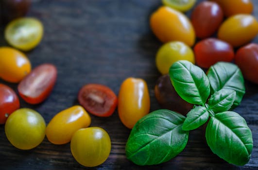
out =
<svg viewBox="0 0 258 170"><path fill-rule="evenodd" d="M235 63L245 79L258 84L258 44L241 47L236 53Z"/></svg>

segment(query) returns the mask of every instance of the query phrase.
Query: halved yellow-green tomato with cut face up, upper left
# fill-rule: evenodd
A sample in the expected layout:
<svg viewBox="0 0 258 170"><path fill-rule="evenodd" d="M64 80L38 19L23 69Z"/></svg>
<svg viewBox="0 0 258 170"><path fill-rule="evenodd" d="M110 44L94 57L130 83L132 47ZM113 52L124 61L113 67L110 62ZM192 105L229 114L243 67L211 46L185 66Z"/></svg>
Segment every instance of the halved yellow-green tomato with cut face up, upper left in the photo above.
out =
<svg viewBox="0 0 258 170"><path fill-rule="evenodd" d="M42 23L32 17L17 18L4 31L6 41L15 48L29 51L36 47L43 36Z"/></svg>

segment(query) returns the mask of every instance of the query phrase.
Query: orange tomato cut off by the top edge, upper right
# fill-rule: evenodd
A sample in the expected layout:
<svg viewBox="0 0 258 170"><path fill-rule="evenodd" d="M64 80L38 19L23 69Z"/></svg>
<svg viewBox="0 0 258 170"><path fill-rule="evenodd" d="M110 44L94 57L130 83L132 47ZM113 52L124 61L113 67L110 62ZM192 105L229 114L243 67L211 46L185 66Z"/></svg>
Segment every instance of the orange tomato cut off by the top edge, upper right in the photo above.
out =
<svg viewBox="0 0 258 170"><path fill-rule="evenodd" d="M253 3L251 0L212 0L217 2L223 9L226 17L236 14L251 14Z"/></svg>

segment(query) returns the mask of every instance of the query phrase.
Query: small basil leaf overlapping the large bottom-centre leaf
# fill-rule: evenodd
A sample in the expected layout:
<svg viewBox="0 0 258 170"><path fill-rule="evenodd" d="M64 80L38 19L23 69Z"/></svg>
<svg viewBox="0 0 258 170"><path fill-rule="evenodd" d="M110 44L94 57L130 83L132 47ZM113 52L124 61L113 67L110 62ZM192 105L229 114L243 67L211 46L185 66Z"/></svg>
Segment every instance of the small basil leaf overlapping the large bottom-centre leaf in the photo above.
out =
<svg viewBox="0 0 258 170"><path fill-rule="evenodd" d="M203 125L208 120L208 118L209 113L206 107L196 106L188 112L187 118L184 121L182 128L185 131L196 129Z"/></svg>

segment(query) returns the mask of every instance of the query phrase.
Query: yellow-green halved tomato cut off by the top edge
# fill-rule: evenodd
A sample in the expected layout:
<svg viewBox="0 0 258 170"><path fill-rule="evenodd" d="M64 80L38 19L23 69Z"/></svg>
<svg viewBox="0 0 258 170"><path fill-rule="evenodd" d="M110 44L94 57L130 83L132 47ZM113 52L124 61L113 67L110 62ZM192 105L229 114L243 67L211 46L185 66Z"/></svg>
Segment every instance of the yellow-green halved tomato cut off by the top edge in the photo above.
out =
<svg viewBox="0 0 258 170"><path fill-rule="evenodd" d="M196 2L196 0L162 0L163 4L178 11L188 11Z"/></svg>

